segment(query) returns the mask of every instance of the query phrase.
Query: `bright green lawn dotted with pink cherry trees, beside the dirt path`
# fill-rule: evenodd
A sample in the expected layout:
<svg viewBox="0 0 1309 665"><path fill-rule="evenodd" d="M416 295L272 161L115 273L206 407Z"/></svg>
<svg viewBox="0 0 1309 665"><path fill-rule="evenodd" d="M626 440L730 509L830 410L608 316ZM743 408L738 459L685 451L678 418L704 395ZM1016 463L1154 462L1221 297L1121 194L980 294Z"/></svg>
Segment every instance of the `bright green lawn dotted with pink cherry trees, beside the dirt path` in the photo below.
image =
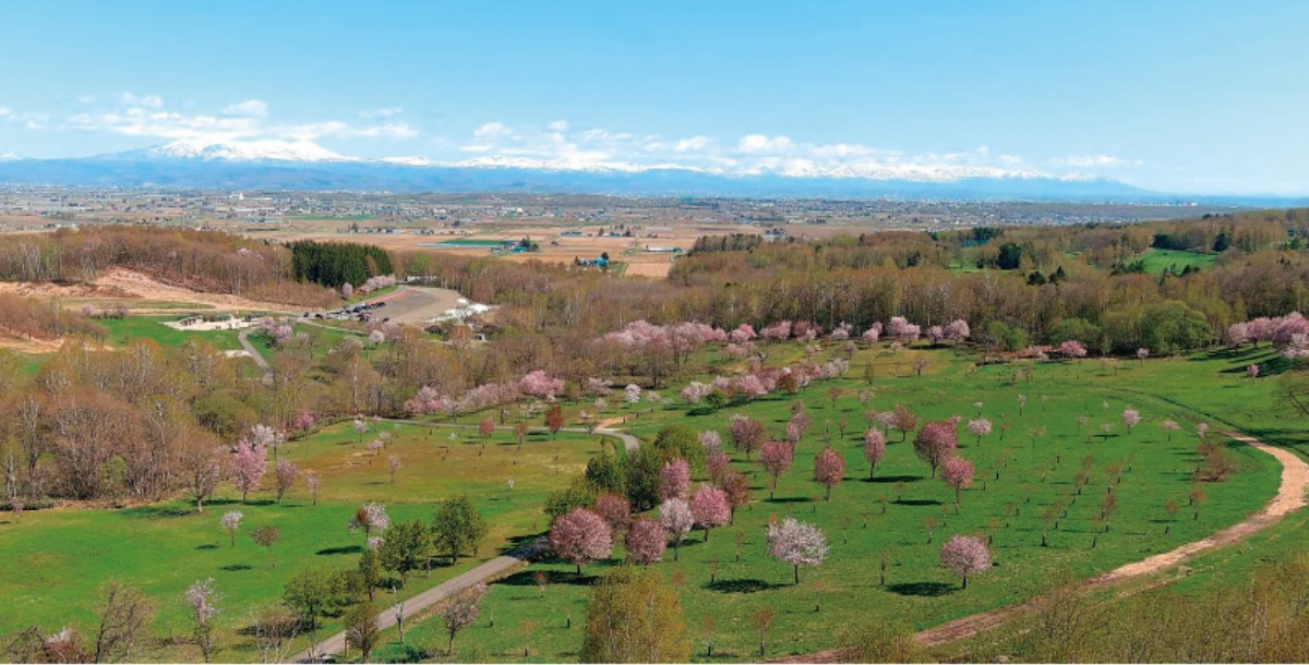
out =
<svg viewBox="0 0 1309 665"><path fill-rule="evenodd" d="M867 355L867 351L856 355L851 374L861 374ZM835 385L844 387L846 394L835 404L827 397L834 384L821 384L797 397L767 398L716 414L689 412L685 404L678 404L628 424L630 431L647 440L670 422L725 433L726 419L745 412L780 435L796 401L806 403L814 420L795 466L778 486L775 500L768 499L767 476L759 463L733 453L737 469L751 475L757 503L737 514L736 525L713 531L708 542L694 533L682 546L679 562L670 560L670 551L669 560L654 567L669 584L682 589L696 658L704 658L711 634L716 658L758 657L751 617L764 607L775 611L767 653L774 657L830 648L836 644L842 626L894 619L924 628L1018 602L1049 588L1063 572L1086 577L1199 539L1240 521L1275 492L1279 467L1272 458L1230 444L1229 453L1240 473L1224 483L1206 484L1207 500L1198 518L1186 508L1190 471L1196 463L1191 425L1203 419L1213 424L1215 432L1224 427L1204 412L1211 402L1242 404L1225 412L1244 427L1259 429L1259 423L1270 422L1257 397L1264 395L1267 387L1229 372L1244 367L1246 359L1043 364L1033 368L1030 382L1021 378L1014 382L1013 373L1020 365L974 368L950 351L928 355L933 372L922 378L872 382L876 397L867 406L856 398L857 390L865 387L864 381L840 381ZM880 376L891 373L890 363L906 360L878 360ZM1162 389L1164 398L1138 393L1156 389ZM1028 397L1021 416L1018 394ZM1202 412L1174 403L1187 399L1194 399ZM898 433L891 433L886 458L873 480L868 480L860 450L867 427L863 412L888 410L897 402L928 419L975 418L979 411L975 403L982 402L980 412L996 423L996 432L980 444L966 433L961 437L961 454L977 465L978 482L963 492L958 511L953 491L928 476L928 467L916 459L908 442L898 442ZM1144 416L1131 432L1119 419L1126 406ZM1090 418L1085 429L1077 423L1081 415ZM844 439L835 435L840 418L850 423ZM1164 419L1183 423L1186 431L1174 433L1169 441L1158 427ZM822 488L810 480L814 454L827 442L827 422L833 423L834 439L839 439L833 445L847 463L846 482L835 488L830 501L822 499ZM1003 440L1001 423L1008 424ZM1100 435L1103 423L1114 425L1109 436ZM1030 436L1038 427L1046 433ZM1088 433L1094 436L1088 439ZM1072 478L1085 458L1090 458L1092 479L1076 495ZM1111 466L1122 467L1122 480L1113 490L1118 504L1110 530L1103 533L1097 517L1111 479L1118 475ZM1073 497L1067 517L1058 518L1058 530L1050 520L1050 546L1041 547L1046 526L1041 513L1059 499ZM1169 499L1182 505L1177 516L1164 509ZM787 514L819 525L831 545L821 568L801 571L800 585L791 583L787 564L771 560L766 552L764 525L771 517ZM937 524L932 543L928 543L929 520ZM967 590L959 589L958 580L937 564L940 543L956 533L994 538L996 566L971 580ZM888 559L885 586L880 580L882 555ZM492 586L484 609L493 613L495 627L479 620L469 628L461 636L465 647L457 657L524 660L524 648L529 648L528 660L575 660L583 640L589 584L594 575L617 566L620 556L619 547L615 560L588 567L580 580L568 564L543 563ZM533 581L537 571L551 580L545 600ZM569 617L572 628L567 627ZM414 658L421 651L444 653L439 619L412 627L407 636L410 648L419 652L393 644L384 657Z"/></svg>

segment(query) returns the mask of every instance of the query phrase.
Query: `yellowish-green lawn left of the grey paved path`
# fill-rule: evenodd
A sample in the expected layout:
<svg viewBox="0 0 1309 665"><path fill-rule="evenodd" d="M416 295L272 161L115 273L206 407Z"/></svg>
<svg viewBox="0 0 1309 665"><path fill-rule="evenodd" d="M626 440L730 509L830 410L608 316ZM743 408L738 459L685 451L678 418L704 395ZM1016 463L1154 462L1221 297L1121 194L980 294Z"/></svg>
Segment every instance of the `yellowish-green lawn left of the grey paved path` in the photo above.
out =
<svg viewBox="0 0 1309 665"><path fill-rule="evenodd" d="M183 501L127 509L29 511L20 521L0 513L0 634L35 624L47 632L62 626L86 628L93 619L97 589L109 580L143 588L158 607L156 632L186 636L182 593L206 577L213 577L225 596L221 602L220 661L250 661L257 655L236 631L249 624L251 613L275 603L288 577L314 566L352 567L363 551L364 535L346 525L363 501L384 501L393 521L431 520L433 504L456 494L469 494L492 529L479 552L483 559L499 554L516 534L545 529L539 509L545 494L560 478L580 471L600 450L593 437L560 435L558 440L533 436L518 450L509 433L496 433L482 449L475 432L459 432L454 441L445 432L427 436L427 428L391 427L393 442L380 456L369 457L352 427L334 425L314 436L283 446L280 456L313 469L322 478L321 500L313 505L302 486L281 504L271 492L251 495L242 505L230 487L224 488L203 513ZM369 432L369 437L376 432ZM403 466L394 484L386 457L398 454ZM511 490L507 484L514 479ZM271 474L264 486L271 486ZM245 514L236 546L219 526L226 511ZM250 539L262 525L281 529L281 542L272 556ZM461 560L456 568L439 567L431 577L415 576L402 596L475 566ZM385 601L384 601L385 602ZM329 622L321 635L339 628ZM198 660L190 645L165 647L151 660Z"/></svg>

